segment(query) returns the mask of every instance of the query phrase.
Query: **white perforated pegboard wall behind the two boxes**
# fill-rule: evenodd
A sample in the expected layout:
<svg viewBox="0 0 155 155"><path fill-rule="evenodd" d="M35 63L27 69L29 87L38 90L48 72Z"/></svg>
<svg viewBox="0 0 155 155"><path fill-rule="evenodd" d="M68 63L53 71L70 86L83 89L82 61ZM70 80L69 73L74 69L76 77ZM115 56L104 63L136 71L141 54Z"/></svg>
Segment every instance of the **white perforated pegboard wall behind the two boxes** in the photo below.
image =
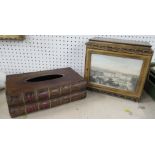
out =
<svg viewBox="0 0 155 155"><path fill-rule="evenodd" d="M147 41L150 42L155 51L155 36L100 36ZM85 43L92 37L95 37L95 35L29 35L26 36L24 41L0 40L0 71L6 74L16 74L72 67L79 74L83 75ZM153 61L155 61L155 57Z"/></svg>

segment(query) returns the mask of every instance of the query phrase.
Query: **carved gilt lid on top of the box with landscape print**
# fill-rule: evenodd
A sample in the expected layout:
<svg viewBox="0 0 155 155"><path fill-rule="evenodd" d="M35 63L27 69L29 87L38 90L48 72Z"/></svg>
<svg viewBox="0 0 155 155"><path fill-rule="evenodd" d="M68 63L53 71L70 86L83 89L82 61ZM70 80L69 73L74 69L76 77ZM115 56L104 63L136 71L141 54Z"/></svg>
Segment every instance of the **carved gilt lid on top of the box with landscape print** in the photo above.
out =
<svg viewBox="0 0 155 155"><path fill-rule="evenodd" d="M86 46L91 49L153 55L152 45L141 41L97 37L89 39Z"/></svg>

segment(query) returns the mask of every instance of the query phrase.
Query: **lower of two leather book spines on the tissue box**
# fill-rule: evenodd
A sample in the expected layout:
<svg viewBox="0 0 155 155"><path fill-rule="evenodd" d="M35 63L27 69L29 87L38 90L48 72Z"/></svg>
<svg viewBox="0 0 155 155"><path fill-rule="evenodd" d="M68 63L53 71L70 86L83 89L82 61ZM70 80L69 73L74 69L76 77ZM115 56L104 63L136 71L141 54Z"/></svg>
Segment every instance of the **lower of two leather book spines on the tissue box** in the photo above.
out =
<svg viewBox="0 0 155 155"><path fill-rule="evenodd" d="M70 103L73 101L77 101L80 99L85 98L87 95L86 91L78 92L69 94L66 96L62 96L59 98L47 100L47 101L40 101L33 104L21 105L21 106L11 106L9 107L9 113L12 118L26 115L28 113L36 112L39 110L49 109L58 105Z"/></svg>

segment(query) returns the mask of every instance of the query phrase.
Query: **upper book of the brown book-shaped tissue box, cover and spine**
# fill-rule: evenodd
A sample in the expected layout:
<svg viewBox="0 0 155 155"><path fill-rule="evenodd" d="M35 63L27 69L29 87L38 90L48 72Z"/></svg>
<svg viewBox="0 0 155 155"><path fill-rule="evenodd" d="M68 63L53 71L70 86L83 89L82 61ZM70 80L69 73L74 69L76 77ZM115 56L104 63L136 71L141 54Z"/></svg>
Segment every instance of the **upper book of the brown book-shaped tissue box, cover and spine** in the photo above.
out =
<svg viewBox="0 0 155 155"><path fill-rule="evenodd" d="M73 69L63 68L8 75L6 96L9 106L31 104L86 90L87 82Z"/></svg>

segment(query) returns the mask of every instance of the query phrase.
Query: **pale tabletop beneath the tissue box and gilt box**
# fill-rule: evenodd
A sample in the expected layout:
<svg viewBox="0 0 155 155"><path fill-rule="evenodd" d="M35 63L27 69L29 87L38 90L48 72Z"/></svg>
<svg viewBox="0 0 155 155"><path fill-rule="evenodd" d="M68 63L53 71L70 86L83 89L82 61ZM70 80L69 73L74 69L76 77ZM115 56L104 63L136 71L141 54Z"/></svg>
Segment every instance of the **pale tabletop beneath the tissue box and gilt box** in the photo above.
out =
<svg viewBox="0 0 155 155"><path fill-rule="evenodd" d="M5 91L0 92L0 118L10 118L5 98ZM88 91L86 99L72 102L52 109L47 109L17 118L155 118L155 102L143 94L140 103Z"/></svg>

